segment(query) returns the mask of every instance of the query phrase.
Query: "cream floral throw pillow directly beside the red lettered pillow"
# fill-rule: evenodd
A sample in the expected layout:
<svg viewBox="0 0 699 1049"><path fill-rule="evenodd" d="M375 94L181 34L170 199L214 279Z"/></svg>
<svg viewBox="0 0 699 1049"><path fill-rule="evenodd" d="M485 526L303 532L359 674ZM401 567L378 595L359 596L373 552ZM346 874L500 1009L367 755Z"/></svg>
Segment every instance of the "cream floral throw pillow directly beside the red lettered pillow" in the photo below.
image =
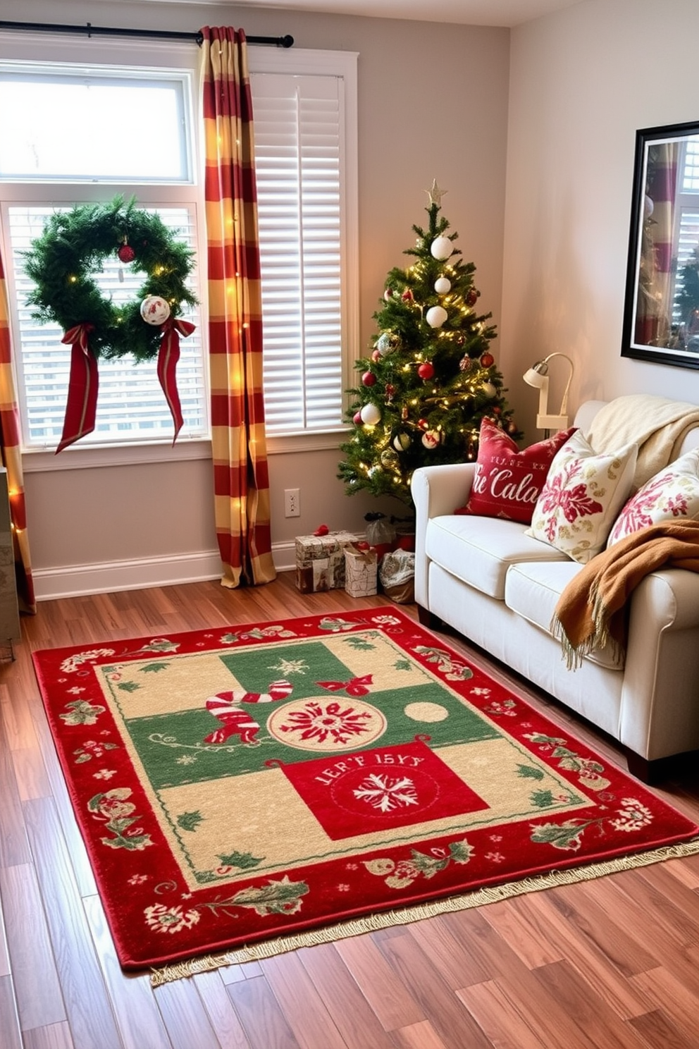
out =
<svg viewBox="0 0 699 1049"><path fill-rule="evenodd" d="M605 549L629 497L638 446L595 452L577 430L556 452L527 534L585 564Z"/></svg>

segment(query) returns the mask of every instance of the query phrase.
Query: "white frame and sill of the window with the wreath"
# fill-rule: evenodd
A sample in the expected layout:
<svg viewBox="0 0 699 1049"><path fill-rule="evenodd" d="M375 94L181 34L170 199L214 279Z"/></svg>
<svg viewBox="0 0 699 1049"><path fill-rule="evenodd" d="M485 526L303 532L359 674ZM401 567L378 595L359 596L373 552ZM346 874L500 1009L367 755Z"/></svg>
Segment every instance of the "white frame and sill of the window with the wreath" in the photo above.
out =
<svg viewBox="0 0 699 1049"><path fill-rule="evenodd" d="M0 58L3 61L17 63L42 63L47 66L64 67L72 66L75 63L82 64L86 68L95 69L106 67L128 68L136 70L152 70L157 73L162 70L172 70L189 80L189 97L191 99L191 112L189 113L189 125L191 129L190 142L190 170L192 177L187 180L158 183L157 186L149 187L149 199L144 202L148 207L165 207L170 204L188 204L195 209L197 218L197 234L195 253L199 261L198 265L198 287L197 297L200 301L201 316L206 316L206 277L205 264L201 261L206 258L206 244L203 232L203 178L201 177L202 162L200 159L200 104L199 104L199 48L195 42L173 42L149 39L139 41L132 39L104 38L83 39L66 37L64 35L51 35L43 33L27 33L18 35L16 33L0 31ZM189 100L185 100L188 104ZM197 162L197 158L199 160ZM0 200L3 208L5 205L14 204L46 204L71 205L74 200L90 204L105 199L105 186L108 181L90 184L85 181L25 181L21 188L21 200L19 196L8 196L7 181L0 181ZM47 194L47 185L50 187L50 194ZM133 184L114 183L113 194L119 192L119 187L124 185L125 196L130 192L138 195L136 187L132 190ZM144 184L149 186L148 183ZM9 264L8 252L8 231L4 230L2 216L0 215L0 235L4 233L3 256L5 259L5 280L9 299L10 320L16 321L16 305L14 295L14 275ZM206 325L201 325L201 340L203 350L203 406L209 416L210 395L209 395L209 368L206 366ZM16 330L16 324L14 324ZM19 383L18 392L19 392ZM139 463L161 463L179 459L199 459L211 457L211 437L205 436L187 437L180 434L177 442L172 446L172 442L167 437L150 442L141 442L138 437L133 441L119 442L110 445L73 446L56 455L54 451L43 451L39 449L23 449L22 462L25 472L44 472L47 470L73 470L91 469L105 466L131 466Z"/></svg>

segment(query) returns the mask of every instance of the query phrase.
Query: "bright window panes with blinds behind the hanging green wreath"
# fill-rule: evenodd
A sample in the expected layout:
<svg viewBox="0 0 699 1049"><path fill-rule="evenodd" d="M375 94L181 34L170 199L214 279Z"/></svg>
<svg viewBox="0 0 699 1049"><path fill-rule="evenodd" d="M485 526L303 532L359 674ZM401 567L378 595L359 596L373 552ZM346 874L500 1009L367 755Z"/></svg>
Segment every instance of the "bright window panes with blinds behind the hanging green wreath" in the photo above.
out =
<svg viewBox="0 0 699 1049"><path fill-rule="evenodd" d="M7 38L8 39L8 38ZM17 42L14 37L14 42ZM37 47L48 46L45 41ZM89 53L77 61L77 48ZM0 38L0 48L2 39ZM14 325L16 368L25 450L53 450L63 429L70 347L58 325L40 324L26 304L30 288L22 253L43 230L44 219L73 205L134 195L138 207L157 212L196 255L199 189L194 171L192 120L196 48L175 48L180 66L135 63L148 51L128 42L60 41L50 46L65 61L4 59L0 50L0 197L3 255ZM127 58L128 50L128 58ZM156 45L155 51L158 52ZM189 51L189 53L188 53ZM95 63L95 52L104 61ZM187 57L185 57L187 56ZM185 57L185 61L183 61ZM116 61L110 61L118 59ZM143 59L141 59L143 60ZM87 133L85 132L87 129ZM105 296L128 301L143 283L128 266L106 260L92 275ZM196 271L192 275L194 294ZM209 435L206 376L199 311L188 314L195 331L180 343L177 386L184 426L178 444ZM80 446L148 445L172 441L173 422L156 374L156 362L101 360L94 431Z"/></svg>

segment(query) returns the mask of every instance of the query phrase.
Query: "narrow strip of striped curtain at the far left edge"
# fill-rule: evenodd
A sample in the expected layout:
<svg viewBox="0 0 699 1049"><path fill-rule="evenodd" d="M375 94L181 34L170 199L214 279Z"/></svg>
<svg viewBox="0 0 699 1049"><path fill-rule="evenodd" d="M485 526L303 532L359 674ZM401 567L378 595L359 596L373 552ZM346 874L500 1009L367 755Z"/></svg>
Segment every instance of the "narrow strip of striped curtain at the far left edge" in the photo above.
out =
<svg viewBox="0 0 699 1049"><path fill-rule="evenodd" d="M8 316L5 272L0 256L0 454L2 465L7 470L18 603L22 612L36 613L29 538L26 533L19 410L13 376Z"/></svg>

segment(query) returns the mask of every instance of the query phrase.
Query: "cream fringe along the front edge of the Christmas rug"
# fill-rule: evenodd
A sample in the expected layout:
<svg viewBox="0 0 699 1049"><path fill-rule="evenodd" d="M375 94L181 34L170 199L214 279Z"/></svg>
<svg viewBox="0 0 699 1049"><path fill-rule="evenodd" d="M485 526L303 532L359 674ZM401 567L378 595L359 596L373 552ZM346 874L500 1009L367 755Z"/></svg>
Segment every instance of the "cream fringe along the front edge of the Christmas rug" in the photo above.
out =
<svg viewBox="0 0 699 1049"><path fill-rule="evenodd" d="M163 965L152 969L151 986L159 987L174 980L196 976L198 972L211 972L226 965L242 965L245 962L259 962L288 950L301 947L314 947L321 943L332 943L350 936L362 936L365 933L375 933L392 925L407 925L409 922L422 921L424 918L435 918L438 915L455 911L466 911L472 907L484 906L487 903L498 903L514 896L525 893L537 893L544 889L555 889L559 885L572 885L578 881L591 881L607 874L617 874L638 866L650 866L663 860L679 859L682 856L699 854L699 838L692 841L680 841L672 845L662 845L646 853L635 853L630 856L618 856L614 859L600 860L587 866L572 868L566 871L550 871L548 874L532 878L522 878L519 881L503 885L489 885L477 889L461 896L449 896L441 900L430 900L414 906L401 907L399 911L386 911L364 918L352 918L348 921L328 925L308 933L296 933L292 936L279 937L274 940L263 940L260 943L227 950L220 955L204 955L174 965Z"/></svg>

